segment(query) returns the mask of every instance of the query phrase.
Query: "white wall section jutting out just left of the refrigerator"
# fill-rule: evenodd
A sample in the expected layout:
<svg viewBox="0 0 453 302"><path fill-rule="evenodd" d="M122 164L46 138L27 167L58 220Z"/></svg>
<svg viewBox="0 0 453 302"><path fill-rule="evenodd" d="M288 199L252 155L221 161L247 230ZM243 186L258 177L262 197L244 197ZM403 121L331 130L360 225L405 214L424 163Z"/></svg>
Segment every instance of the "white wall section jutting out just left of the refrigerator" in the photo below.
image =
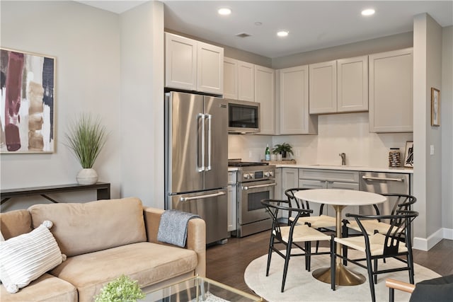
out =
<svg viewBox="0 0 453 302"><path fill-rule="evenodd" d="M164 209L164 5L122 13L121 196Z"/></svg>

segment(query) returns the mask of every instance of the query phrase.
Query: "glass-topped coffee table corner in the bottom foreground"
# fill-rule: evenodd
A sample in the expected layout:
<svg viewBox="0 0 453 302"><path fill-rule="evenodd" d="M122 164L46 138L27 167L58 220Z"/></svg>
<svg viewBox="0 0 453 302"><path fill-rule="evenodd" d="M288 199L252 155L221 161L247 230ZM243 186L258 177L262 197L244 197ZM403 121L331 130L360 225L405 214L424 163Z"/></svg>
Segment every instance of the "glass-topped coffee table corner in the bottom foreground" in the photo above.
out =
<svg viewBox="0 0 453 302"><path fill-rule="evenodd" d="M247 294L217 281L204 277L191 277L176 284L145 292L140 301L154 302L225 302L263 301L263 298Z"/></svg>

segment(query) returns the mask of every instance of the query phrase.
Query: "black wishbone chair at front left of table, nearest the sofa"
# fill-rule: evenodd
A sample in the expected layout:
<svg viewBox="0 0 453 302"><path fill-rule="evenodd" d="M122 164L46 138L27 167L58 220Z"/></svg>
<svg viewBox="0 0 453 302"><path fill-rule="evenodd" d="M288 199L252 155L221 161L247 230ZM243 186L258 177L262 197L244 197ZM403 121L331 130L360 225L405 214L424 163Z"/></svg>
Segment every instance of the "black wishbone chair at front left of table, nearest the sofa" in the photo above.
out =
<svg viewBox="0 0 453 302"><path fill-rule="evenodd" d="M266 207L268 213L272 217L272 229L270 230L266 277L269 276L270 260L272 258L272 254L273 252L276 252L278 255L285 259L281 288L281 291L283 292L285 290L285 281L290 258L295 256L304 256L305 269L307 271L310 271L311 255L325 255L331 253L331 251L311 252L311 241L327 240L331 241L332 243L333 240L331 240L331 236L317 231L315 228L311 228L306 224L297 223L300 217L306 214L310 214L313 210L288 207L289 202L287 200L263 199L261 200L261 204ZM295 214L295 216L292 223L289 223L288 225L287 223L281 221L280 216L287 216L289 212L292 212L292 214ZM301 245L299 243L304 243L304 245ZM285 251L280 251L280 248L278 248L279 245L284 245ZM297 252L292 252L292 248L298 248L299 250Z"/></svg>

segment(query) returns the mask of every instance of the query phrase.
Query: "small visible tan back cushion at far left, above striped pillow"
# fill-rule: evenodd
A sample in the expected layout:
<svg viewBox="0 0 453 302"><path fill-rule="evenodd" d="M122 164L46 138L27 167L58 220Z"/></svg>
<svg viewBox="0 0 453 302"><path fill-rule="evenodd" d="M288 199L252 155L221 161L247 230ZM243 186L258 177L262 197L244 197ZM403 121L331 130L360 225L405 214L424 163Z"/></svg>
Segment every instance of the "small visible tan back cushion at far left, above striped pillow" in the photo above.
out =
<svg viewBox="0 0 453 302"><path fill-rule="evenodd" d="M38 223L38 226L41 223ZM31 216L27 210L15 210L0 213L1 235L8 240L25 233L30 233Z"/></svg>

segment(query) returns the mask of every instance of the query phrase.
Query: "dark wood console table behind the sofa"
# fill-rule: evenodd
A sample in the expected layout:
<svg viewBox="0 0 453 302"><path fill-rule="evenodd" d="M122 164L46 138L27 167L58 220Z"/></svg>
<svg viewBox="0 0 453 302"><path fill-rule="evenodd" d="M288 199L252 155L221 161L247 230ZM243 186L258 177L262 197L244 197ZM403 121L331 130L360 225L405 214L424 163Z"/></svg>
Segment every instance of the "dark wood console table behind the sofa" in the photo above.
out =
<svg viewBox="0 0 453 302"><path fill-rule="evenodd" d="M41 195L51 202L58 203L57 200L52 199L47 196L47 194L53 193L63 193L63 192L76 192L76 191L86 191L86 190L96 190L98 193L98 200L100 199L110 199L110 183L108 182L96 182L94 185L50 185L46 187L21 187L18 189L6 189L1 190L1 202L4 204L9 199L13 197L25 197L33 195Z"/></svg>

